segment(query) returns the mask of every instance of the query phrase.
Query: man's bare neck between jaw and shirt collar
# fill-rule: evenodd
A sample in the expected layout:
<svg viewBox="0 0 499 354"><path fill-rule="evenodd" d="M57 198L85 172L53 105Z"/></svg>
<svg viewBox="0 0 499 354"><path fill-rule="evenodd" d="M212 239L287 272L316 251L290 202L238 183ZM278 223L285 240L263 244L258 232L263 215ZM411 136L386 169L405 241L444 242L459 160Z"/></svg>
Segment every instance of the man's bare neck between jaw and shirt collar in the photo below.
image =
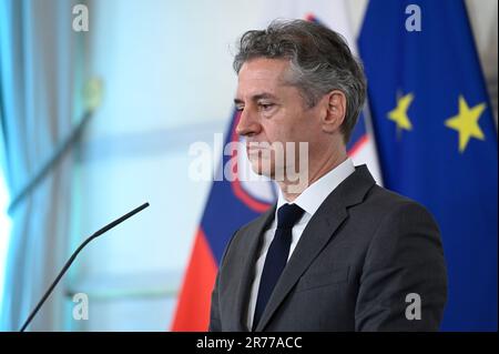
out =
<svg viewBox="0 0 499 354"><path fill-rule="evenodd" d="M330 154L325 155L324 159L318 159L317 161L315 161L315 163L310 161L308 165L308 179L306 181L307 183L303 183L302 179L299 179L298 183L296 183L296 181L291 182L286 179L284 181L277 182L284 198L287 202L295 201L303 193L303 191L308 188L308 185L319 180L329 171L334 170L346 159L348 159L348 155L346 153L346 150L343 149L342 151L335 151Z"/></svg>

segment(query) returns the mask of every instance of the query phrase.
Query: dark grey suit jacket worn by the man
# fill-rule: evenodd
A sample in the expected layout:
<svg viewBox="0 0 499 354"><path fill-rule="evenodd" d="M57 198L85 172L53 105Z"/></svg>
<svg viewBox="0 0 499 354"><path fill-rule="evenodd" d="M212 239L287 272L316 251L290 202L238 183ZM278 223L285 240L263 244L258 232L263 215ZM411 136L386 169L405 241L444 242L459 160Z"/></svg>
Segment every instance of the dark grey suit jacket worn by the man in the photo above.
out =
<svg viewBox="0 0 499 354"><path fill-rule="evenodd" d="M241 227L227 245L210 331L248 331L259 241L274 213L275 206ZM406 317L406 310L417 313L410 293L420 297L420 320ZM361 165L310 219L256 331L436 331L446 301L436 222L421 205L376 185Z"/></svg>

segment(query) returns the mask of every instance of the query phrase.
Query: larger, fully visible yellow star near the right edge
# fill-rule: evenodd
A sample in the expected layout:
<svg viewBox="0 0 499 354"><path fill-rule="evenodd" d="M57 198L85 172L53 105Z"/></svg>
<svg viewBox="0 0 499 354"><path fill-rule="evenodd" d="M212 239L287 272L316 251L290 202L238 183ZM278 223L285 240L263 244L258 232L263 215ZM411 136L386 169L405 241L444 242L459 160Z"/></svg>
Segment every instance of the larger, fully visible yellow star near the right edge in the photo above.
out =
<svg viewBox="0 0 499 354"><path fill-rule="evenodd" d="M471 138L485 140L483 132L478 125L478 120L486 109L485 103L469 108L462 95L459 95L459 114L446 120L446 127L455 129L459 133L459 152L464 152Z"/></svg>

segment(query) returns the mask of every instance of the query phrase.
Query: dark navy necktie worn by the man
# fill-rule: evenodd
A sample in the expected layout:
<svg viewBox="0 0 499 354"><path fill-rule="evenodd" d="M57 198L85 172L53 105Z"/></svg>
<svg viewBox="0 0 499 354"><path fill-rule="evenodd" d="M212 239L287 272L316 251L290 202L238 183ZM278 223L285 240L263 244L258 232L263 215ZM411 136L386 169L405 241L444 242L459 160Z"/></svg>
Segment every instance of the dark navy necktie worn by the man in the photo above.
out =
<svg viewBox="0 0 499 354"><path fill-rule="evenodd" d="M284 204L277 211L277 230L265 257L265 264L258 287L258 297L256 300L255 315L253 317L253 330L262 317L262 314L271 297L277 280L283 273L289 255L292 243L292 229L303 215L304 210L296 204Z"/></svg>

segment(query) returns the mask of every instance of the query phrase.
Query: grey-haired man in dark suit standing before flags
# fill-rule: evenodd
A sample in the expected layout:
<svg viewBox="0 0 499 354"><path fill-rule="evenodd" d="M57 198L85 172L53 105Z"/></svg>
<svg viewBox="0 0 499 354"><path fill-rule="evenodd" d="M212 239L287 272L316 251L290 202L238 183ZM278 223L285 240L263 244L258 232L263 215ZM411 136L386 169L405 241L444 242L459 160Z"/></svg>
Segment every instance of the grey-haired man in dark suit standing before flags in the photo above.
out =
<svg viewBox="0 0 499 354"><path fill-rule="evenodd" d="M210 330L438 330L447 300L439 230L348 159L366 83L342 37L274 21L242 37L234 68L237 133L253 170L281 193L227 245ZM302 184L292 179L305 161L292 154L299 142L308 148Z"/></svg>

